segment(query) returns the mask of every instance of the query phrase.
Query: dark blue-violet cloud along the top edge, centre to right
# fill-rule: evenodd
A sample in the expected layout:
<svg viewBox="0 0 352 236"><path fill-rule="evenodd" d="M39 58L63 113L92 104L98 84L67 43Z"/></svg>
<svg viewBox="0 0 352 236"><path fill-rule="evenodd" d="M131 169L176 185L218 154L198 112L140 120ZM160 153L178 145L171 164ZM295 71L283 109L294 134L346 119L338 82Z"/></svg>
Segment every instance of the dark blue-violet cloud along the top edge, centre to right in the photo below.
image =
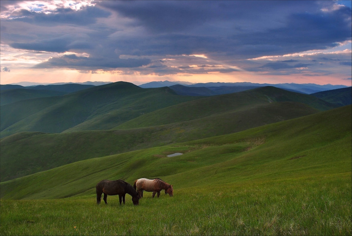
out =
<svg viewBox="0 0 352 236"><path fill-rule="evenodd" d="M302 5L305 10L316 7L315 2L310 1L101 1L98 5L136 19L154 32L180 32L219 20L256 21L260 18L268 21L268 15L271 19L281 19L288 9L302 11Z"/></svg>

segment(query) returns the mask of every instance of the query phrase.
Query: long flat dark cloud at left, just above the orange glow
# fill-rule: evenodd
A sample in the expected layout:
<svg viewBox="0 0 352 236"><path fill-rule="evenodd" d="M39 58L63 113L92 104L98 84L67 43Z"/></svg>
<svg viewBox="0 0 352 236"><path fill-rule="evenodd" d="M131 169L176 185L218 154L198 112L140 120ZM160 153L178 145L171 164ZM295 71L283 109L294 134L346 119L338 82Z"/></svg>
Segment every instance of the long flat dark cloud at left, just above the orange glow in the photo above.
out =
<svg viewBox="0 0 352 236"><path fill-rule="evenodd" d="M34 68L133 68L145 66L150 63L147 58L143 59L121 59L121 58L92 58L77 57L75 54L64 55L62 57L52 57L48 61L37 64Z"/></svg>

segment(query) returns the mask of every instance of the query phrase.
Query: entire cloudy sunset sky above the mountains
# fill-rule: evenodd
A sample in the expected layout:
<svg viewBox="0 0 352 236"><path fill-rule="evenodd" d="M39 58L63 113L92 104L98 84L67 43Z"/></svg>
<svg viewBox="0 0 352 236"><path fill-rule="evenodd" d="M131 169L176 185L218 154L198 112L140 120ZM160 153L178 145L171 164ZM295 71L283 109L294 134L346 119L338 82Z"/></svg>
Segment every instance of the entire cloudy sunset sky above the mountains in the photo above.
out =
<svg viewBox="0 0 352 236"><path fill-rule="evenodd" d="M351 85L351 1L0 1L1 84Z"/></svg>

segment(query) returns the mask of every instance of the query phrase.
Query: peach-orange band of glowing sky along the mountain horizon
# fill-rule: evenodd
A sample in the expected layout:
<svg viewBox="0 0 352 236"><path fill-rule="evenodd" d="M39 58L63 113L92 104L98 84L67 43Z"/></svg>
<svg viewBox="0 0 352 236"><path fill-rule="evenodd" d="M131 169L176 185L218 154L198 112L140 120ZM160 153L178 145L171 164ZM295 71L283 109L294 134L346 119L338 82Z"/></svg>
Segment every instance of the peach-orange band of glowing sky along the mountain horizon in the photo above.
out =
<svg viewBox="0 0 352 236"><path fill-rule="evenodd" d="M151 81L188 81L192 83L207 82L252 82L252 83L315 83L319 85L346 85L351 86L351 80L345 80L344 75L334 76L302 76L300 74L291 75L269 75L265 73L254 72L232 72L219 73L211 72L207 74L178 74L178 75L140 75L130 74L123 75L110 72L97 72L92 74L80 73L78 70L67 69L21 69L12 70L11 72L1 72L0 83L18 83L18 82L38 82L38 83L58 83L58 82L86 82L86 81L126 81L136 85Z"/></svg>

